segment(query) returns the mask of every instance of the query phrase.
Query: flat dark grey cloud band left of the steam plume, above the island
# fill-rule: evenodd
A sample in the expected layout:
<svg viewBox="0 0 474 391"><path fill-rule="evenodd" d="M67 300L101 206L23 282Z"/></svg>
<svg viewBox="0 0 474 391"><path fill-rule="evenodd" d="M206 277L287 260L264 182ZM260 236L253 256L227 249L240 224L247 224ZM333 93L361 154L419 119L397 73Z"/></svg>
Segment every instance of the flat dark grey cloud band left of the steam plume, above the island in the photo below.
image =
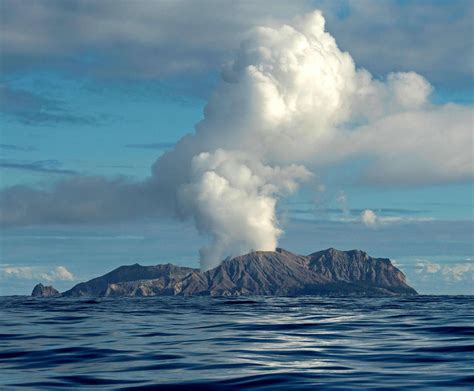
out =
<svg viewBox="0 0 474 391"><path fill-rule="evenodd" d="M60 170L62 173L64 170ZM51 188L12 186L0 191L0 224L102 224L169 216L154 182L76 175Z"/></svg>

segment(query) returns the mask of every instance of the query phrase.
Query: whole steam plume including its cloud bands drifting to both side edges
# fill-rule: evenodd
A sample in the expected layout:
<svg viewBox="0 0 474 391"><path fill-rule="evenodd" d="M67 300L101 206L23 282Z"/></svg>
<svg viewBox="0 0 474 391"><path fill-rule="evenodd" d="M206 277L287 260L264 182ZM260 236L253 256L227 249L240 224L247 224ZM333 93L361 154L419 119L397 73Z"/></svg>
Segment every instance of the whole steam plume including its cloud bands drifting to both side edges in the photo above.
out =
<svg viewBox="0 0 474 391"><path fill-rule="evenodd" d="M357 69L312 12L259 27L224 67L204 119L142 183L73 178L51 192L2 191L8 224L116 221L171 214L209 236L201 267L273 250L275 208L312 171L363 157L365 180L424 184L474 178L472 109L429 102L414 72L374 79ZM86 197L84 196L86 195ZM126 207L123 207L127 204Z"/></svg>

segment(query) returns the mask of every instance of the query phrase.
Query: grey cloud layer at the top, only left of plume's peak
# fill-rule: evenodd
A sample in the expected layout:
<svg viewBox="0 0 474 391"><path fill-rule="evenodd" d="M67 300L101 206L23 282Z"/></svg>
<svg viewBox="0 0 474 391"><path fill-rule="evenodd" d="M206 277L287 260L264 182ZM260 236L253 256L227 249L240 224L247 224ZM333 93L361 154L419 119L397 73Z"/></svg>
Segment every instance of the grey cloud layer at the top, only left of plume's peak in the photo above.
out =
<svg viewBox="0 0 474 391"><path fill-rule="evenodd" d="M308 0L137 1L134 12L126 1L105 0L87 7L56 0L48 5L21 3L7 1L2 7L3 68L17 71L49 65L103 79L207 71L218 67L229 47L237 47L245 31L262 20L288 18L310 9ZM97 29L104 20L106 26Z"/></svg>

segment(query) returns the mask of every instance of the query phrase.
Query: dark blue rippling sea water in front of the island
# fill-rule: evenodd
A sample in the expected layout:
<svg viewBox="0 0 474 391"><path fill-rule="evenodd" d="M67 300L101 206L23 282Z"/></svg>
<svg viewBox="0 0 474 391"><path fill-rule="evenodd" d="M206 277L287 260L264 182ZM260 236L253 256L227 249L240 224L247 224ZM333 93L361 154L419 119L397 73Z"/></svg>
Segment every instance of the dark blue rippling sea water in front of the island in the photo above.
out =
<svg viewBox="0 0 474 391"><path fill-rule="evenodd" d="M0 298L0 389L466 389L474 298Z"/></svg>

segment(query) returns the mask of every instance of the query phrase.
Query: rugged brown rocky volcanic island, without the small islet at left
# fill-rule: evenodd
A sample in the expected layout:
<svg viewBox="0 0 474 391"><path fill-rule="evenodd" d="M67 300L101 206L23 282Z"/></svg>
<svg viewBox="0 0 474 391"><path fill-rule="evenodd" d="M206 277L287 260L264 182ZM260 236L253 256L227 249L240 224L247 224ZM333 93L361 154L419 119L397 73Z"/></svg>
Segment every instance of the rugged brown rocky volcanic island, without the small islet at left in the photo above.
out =
<svg viewBox="0 0 474 391"><path fill-rule="evenodd" d="M171 264L121 266L63 296L416 295L389 259L359 250L302 256L283 249L226 260L207 272Z"/></svg>

